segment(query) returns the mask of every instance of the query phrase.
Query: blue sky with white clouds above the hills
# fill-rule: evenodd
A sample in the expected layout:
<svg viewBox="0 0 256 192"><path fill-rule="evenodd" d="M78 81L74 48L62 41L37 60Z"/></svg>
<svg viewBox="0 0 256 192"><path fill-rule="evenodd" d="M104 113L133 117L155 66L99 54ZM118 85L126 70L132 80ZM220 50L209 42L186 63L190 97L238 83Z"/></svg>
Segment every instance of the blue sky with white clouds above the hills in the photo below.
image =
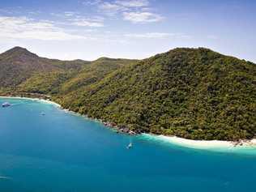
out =
<svg viewBox="0 0 256 192"><path fill-rule="evenodd" d="M0 52L147 58L206 47L256 63L254 0L0 0Z"/></svg>

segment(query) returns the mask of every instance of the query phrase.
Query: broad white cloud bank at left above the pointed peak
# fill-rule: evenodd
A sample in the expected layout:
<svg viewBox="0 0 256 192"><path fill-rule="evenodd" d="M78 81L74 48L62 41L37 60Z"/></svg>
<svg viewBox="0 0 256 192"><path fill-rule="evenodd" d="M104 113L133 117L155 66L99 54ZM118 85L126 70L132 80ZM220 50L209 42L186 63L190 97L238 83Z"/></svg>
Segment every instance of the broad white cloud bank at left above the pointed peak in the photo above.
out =
<svg viewBox="0 0 256 192"><path fill-rule="evenodd" d="M65 32L63 28L56 27L53 22L36 21L27 17L2 17L0 16L1 39L26 39L43 41L67 41L89 39Z"/></svg>

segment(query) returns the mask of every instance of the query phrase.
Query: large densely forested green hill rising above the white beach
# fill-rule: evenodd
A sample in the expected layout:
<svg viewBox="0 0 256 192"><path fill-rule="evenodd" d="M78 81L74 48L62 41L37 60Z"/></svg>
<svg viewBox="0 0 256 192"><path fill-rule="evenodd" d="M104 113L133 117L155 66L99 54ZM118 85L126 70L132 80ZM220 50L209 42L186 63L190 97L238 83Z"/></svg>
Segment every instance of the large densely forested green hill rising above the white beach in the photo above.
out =
<svg viewBox="0 0 256 192"><path fill-rule="evenodd" d="M102 59L105 65L99 60L83 66L56 85L58 78L48 74L49 86L28 79L15 91L51 94L66 109L136 132L188 139L256 137L254 63L203 48L173 49L139 62ZM47 82L44 75L32 78Z"/></svg>

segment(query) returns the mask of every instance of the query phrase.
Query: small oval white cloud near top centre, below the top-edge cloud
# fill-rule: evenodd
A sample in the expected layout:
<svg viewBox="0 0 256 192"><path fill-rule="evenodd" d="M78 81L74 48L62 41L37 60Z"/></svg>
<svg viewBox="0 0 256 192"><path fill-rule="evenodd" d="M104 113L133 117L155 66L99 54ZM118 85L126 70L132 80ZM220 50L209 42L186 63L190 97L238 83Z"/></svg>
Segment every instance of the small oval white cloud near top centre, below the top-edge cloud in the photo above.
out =
<svg viewBox="0 0 256 192"><path fill-rule="evenodd" d="M163 20L164 17L151 12L124 12L123 19L132 23L152 23L159 22Z"/></svg>

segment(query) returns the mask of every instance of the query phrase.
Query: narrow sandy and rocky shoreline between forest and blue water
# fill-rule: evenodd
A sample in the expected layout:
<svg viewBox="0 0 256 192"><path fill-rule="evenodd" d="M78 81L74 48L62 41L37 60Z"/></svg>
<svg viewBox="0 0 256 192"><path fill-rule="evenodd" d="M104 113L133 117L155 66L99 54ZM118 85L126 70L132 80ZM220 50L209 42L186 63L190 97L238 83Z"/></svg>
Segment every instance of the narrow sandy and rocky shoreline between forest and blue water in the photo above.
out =
<svg viewBox="0 0 256 192"><path fill-rule="evenodd" d="M0 96L0 98L6 98L6 99L23 99L23 100L37 100L49 105L54 105L58 107L59 109L62 109L66 113L71 113L75 115L79 115L80 117L84 117L87 119L90 119L94 122L98 122L102 124L103 126L108 127L109 129L116 130L117 133L124 133L124 134L130 134L130 135L136 135L135 132L127 130L126 128L120 128L115 126L113 123L109 122L103 122L100 119L93 119L90 117L87 117L80 113L75 113L73 111L70 111L69 109L62 108L61 105L58 103L55 103L51 100L45 100L42 98L30 98L30 97L22 97L22 96ZM194 149L235 149L235 148L254 148L256 150L256 139L251 140L241 140L239 142L233 142L233 141L221 141L221 140L192 140L192 139L183 139L179 138L177 136L166 136L166 135L156 135L156 134L139 134L144 138L147 139L155 139L162 141L164 143L172 143L177 146L181 147L188 147L188 148L194 148Z"/></svg>

